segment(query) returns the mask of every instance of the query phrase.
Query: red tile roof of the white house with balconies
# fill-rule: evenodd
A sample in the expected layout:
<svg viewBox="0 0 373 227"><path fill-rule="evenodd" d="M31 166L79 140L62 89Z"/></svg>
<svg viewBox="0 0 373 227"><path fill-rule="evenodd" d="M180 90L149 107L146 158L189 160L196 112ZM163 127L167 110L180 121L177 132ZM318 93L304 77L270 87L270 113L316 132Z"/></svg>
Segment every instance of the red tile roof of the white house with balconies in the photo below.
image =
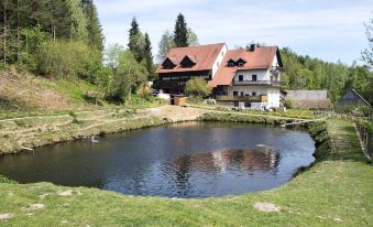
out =
<svg viewBox="0 0 373 227"><path fill-rule="evenodd" d="M245 48L228 51L218 72L212 80L209 82L209 86L230 85L237 71L270 68L277 51L277 46L255 47L253 52ZM237 61L239 58L244 60L246 63L241 67L228 67L229 60Z"/></svg>

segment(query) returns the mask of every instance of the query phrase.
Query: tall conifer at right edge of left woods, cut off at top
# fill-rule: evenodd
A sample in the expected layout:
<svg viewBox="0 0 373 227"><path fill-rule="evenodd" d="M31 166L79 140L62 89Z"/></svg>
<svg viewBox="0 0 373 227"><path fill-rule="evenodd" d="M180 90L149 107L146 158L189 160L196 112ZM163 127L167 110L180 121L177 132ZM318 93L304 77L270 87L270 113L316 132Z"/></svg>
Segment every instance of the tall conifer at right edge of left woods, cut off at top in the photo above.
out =
<svg viewBox="0 0 373 227"><path fill-rule="evenodd" d="M87 18L88 43L103 51L103 34L98 19L97 8L92 0L81 0L81 4Z"/></svg>

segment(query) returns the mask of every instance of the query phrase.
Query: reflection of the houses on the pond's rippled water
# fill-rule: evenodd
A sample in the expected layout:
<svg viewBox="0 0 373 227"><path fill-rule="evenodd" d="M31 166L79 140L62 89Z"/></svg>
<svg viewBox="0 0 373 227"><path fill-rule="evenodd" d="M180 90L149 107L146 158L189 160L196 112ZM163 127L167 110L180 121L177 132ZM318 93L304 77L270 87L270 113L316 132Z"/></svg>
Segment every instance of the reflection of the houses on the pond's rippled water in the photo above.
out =
<svg viewBox="0 0 373 227"><path fill-rule="evenodd" d="M164 163L164 175L174 176L177 195L189 194L193 184L189 179L198 174L200 180L224 174L253 175L255 172L275 174L281 155L276 151L260 150L218 150L209 153L186 154ZM229 173L227 173L229 172Z"/></svg>

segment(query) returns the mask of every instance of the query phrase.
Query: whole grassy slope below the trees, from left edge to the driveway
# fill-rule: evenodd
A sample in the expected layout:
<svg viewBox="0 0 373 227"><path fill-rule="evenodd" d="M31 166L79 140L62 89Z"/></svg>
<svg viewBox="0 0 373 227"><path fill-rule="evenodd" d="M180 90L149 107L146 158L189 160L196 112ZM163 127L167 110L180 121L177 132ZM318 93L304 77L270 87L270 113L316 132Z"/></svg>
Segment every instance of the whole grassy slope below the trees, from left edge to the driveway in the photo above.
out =
<svg viewBox="0 0 373 227"><path fill-rule="evenodd" d="M125 107L160 105L162 101L151 96L132 95ZM0 119L120 107L124 106L105 100L102 88L77 77L45 78L17 69L0 71Z"/></svg>

